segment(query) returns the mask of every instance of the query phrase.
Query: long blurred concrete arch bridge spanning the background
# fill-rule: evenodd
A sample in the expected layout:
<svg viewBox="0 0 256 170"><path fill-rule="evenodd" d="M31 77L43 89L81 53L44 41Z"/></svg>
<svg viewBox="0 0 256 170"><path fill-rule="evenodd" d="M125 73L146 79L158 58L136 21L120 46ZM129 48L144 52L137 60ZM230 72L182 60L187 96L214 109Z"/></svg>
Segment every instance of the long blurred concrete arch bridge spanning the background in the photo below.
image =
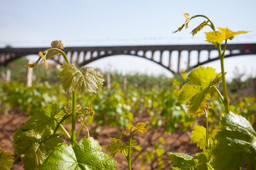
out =
<svg viewBox="0 0 256 170"><path fill-rule="evenodd" d="M0 49L0 67L6 66L9 62L31 54L38 54L38 51L45 51L46 48L5 48ZM218 60L217 49L214 45L145 45L145 46L99 46L99 47L66 47L64 52L73 64L79 66L115 55L131 55L151 60L166 68L173 74L181 72L182 63L186 63L185 70L189 71L200 65ZM215 52L214 55L212 55ZM192 55L193 53L193 55ZM176 54L176 55L174 55ZM202 56L204 54L204 59ZM228 44L225 58L256 54L256 43ZM185 56L184 56L185 55ZM205 55L207 56L205 58ZM175 63L173 58L176 58ZM192 57L197 60L192 64ZM64 62L62 56L56 56L53 60L59 64ZM174 69L175 66L175 69ZM183 68L184 69L184 68Z"/></svg>

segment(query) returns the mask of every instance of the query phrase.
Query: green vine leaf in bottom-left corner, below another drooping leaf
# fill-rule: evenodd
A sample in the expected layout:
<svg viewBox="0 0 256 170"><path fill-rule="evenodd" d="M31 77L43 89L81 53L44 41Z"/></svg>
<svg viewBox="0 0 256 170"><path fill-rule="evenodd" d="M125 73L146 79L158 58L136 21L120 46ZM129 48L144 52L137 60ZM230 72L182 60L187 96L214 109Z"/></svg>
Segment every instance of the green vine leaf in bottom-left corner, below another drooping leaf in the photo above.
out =
<svg viewBox="0 0 256 170"><path fill-rule="evenodd" d="M14 139L18 155L25 154L22 158L25 170L37 170L48 157L48 151L57 149L62 142L59 134L42 137L35 130L25 131Z"/></svg>

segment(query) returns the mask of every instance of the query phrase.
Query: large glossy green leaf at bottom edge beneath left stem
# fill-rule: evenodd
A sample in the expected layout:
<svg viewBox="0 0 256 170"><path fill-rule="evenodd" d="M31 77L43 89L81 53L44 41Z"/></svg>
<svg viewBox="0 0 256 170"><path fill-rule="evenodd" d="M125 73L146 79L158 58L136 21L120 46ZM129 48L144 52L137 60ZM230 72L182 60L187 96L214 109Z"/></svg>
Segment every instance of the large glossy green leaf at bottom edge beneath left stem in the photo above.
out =
<svg viewBox="0 0 256 170"><path fill-rule="evenodd" d="M117 170L116 161L101 152L98 141L83 137L79 144L62 144L50 151L40 170Z"/></svg>

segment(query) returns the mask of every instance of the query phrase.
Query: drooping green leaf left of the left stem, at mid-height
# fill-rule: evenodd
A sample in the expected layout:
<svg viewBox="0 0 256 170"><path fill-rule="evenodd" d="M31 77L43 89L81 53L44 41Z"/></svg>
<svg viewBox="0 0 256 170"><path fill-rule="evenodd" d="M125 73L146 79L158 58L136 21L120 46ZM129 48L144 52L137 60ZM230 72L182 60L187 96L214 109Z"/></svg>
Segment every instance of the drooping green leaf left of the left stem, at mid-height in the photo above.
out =
<svg viewBox="0 0 256 170"><path fill-rule="evenodd" d="M15 140L17 136L23 133L23 131L33 129L39 132L43 137L54 133L55 128L58 126L57 121L60 121L64 117L64 112L60 109L58 103L54 103L52 106L46 106L40 110L37 110L35 115L26 121L25 125L18 128L13 136ZM56 133L60 133L59 129Z"/></svg>

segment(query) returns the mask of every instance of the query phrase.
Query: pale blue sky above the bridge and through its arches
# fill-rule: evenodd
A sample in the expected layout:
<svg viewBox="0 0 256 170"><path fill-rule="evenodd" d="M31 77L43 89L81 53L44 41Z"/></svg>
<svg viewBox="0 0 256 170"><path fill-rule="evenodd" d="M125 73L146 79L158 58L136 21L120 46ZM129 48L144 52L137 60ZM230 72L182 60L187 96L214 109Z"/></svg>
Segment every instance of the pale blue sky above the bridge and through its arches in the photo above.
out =
<svg viewBox="0 0 256 170"><path fill-rule="evenodd" d="M207 44L204 29L190 34L203 18L190 21L186 30L172 34L185 18L203 14L215 27L250 31L228 43L256 43L256 0L0 0L0 48L50 47L62 40L66 47L112 45ZM256 76L256 55L225 59L228 79L240 73ZM173 76L152 61L132 56L112 56L88 66L103 71ZM219 61L204 66L220 72Z"/></svg>

